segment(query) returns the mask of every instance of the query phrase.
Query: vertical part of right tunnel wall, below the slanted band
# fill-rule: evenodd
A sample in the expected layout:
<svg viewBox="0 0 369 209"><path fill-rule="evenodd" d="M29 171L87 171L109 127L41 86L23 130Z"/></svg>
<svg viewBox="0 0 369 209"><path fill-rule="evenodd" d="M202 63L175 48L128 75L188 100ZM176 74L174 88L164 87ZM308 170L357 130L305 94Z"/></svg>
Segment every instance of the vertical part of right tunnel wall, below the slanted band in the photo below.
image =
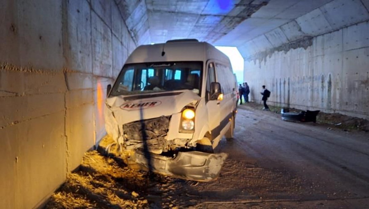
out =
<svg viewBox="0 0 369 209"><path fill-rule="evenodd" d="M251 99L369 119L369 23L361 22L249 56L245 81Z"/></svg>

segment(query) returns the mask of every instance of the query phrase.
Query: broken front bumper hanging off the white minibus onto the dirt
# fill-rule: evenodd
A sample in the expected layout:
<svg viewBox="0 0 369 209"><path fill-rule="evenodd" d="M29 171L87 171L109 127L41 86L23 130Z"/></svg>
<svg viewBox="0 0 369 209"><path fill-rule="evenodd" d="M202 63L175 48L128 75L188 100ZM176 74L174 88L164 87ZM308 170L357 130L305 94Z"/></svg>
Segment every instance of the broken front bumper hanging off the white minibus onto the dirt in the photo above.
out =
<svg viewBox="0 0 369 209"><path fill-rule="evenodd" d="M147 169L150 162L152 171L166 176L194 181L212 181L218 178L227 156L226 153L191 151L179 152L175 158L172 158L153 153L145 154L137 150L135 159L132 160Z"/></svg>

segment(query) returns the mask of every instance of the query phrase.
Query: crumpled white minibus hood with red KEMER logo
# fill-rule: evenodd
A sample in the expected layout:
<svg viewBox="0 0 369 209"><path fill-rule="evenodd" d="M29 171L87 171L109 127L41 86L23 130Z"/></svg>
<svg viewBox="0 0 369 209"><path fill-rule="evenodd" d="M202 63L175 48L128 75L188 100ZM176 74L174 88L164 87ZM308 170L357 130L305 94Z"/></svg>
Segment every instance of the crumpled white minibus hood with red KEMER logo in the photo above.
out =
<svg viewBox="0 0 369 209"><path fill-rule="evenodd" d="M112 115L116 122L120 125L160 116L170 116L173 113L180 112L189 103L197 102L198 100L200 100L199 95L186 90L183 92L161 92L150 95L115 96L107 98L106 105L110 112L113 113Z"/></svg>

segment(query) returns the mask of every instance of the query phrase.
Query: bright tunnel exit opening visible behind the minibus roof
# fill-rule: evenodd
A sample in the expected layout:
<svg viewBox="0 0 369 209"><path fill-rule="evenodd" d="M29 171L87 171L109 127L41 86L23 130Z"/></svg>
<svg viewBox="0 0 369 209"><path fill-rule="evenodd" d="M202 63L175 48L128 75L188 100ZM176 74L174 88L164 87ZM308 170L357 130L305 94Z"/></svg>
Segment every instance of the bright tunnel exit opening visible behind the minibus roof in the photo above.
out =
<svg viewBox="0 0 369 209"><path fill-rule="evenodd" d="M227 55L231 61L233 72L236 74L237 83L244 82L244 58L239 53L237 47L234 46L215 46L225 55Z"/></svg>

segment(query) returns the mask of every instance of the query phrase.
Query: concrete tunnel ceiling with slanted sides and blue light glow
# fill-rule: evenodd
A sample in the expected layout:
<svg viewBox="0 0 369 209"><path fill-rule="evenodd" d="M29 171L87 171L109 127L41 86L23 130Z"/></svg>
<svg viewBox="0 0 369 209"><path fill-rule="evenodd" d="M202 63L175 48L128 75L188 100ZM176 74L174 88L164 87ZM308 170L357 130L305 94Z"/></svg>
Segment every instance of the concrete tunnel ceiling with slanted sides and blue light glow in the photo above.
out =
<svg viewBox="0 0 369 209"><path fill-rule="evenodd" d="M137 45L195 38L237 46L244 57L369 19L369 0L115 2Z"/></svg>

